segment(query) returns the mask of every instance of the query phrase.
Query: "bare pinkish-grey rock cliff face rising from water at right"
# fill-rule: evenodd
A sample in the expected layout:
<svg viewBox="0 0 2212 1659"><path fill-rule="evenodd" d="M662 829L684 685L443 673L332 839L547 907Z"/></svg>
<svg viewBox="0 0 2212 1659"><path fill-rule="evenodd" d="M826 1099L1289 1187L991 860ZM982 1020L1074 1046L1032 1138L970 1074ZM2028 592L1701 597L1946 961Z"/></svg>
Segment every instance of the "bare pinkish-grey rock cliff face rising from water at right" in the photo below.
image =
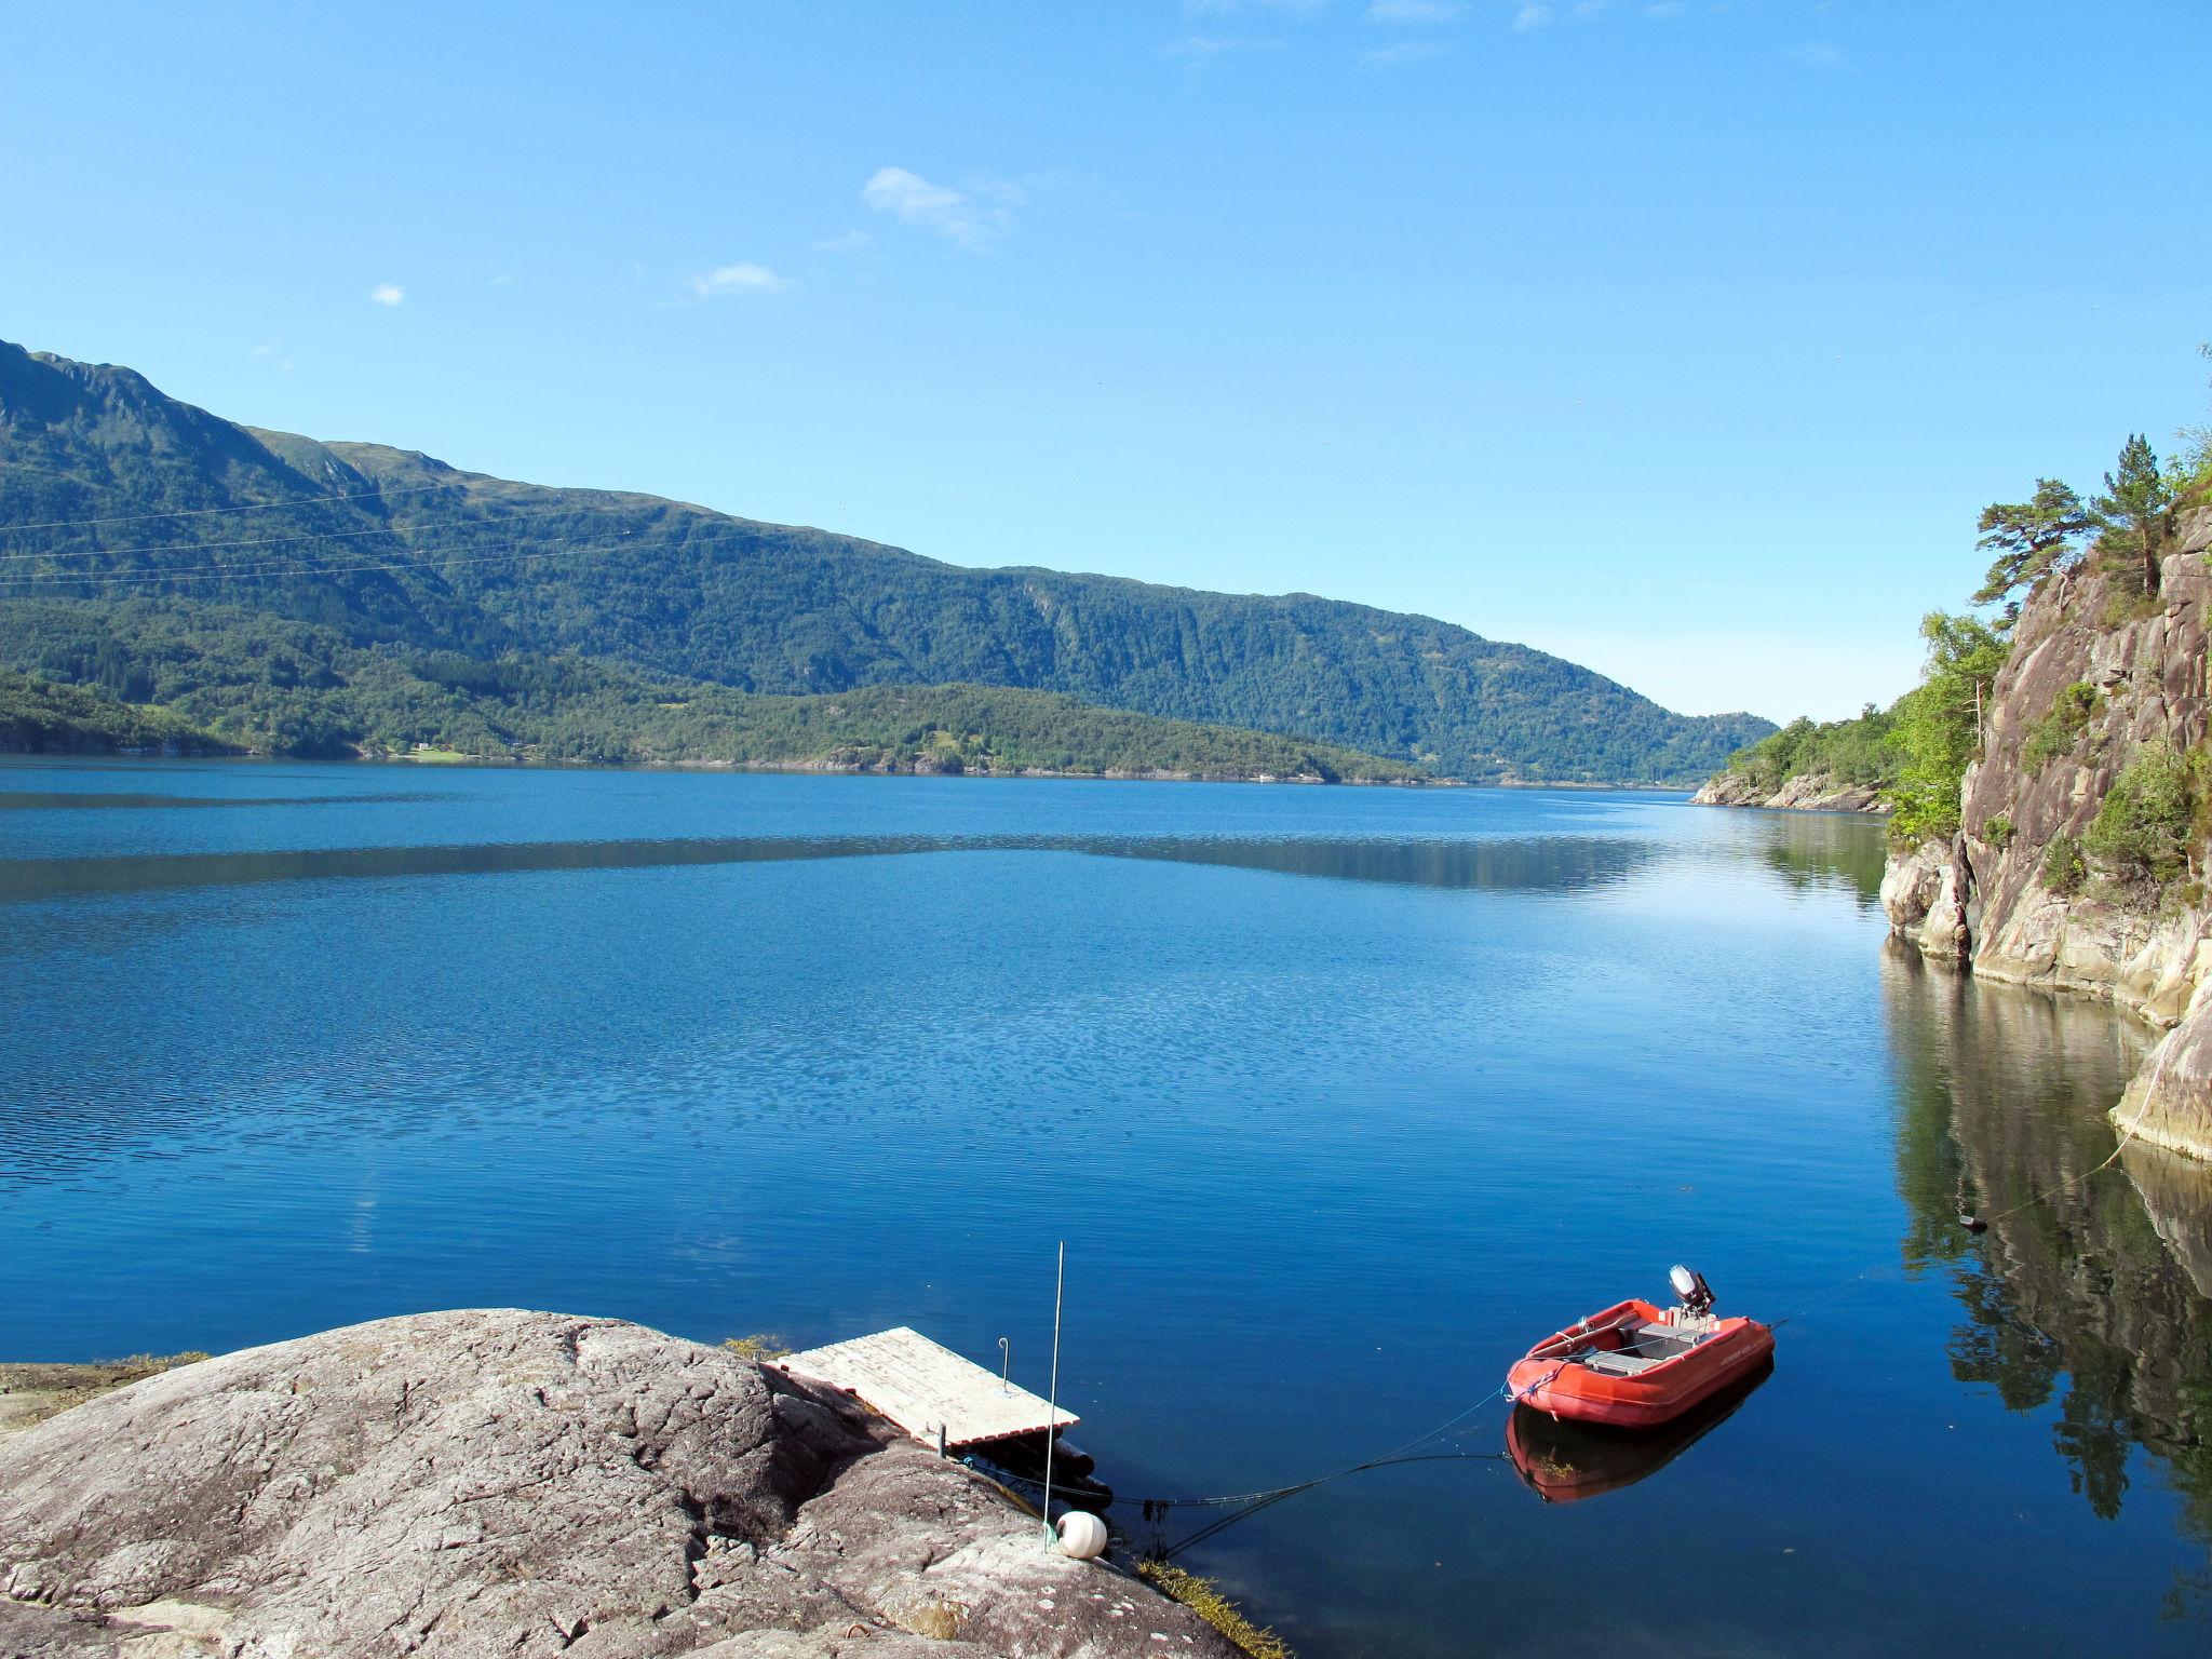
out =
<svg viewBox="0 0 2212 1659"><path fill-rule="evenodd" d="M1962 832L1898 849L1882 878L1891 929L1929 958L2055 991L2086 991L2170 1029L2115 1119L2159 1146L2212 1159L2212 907L2201 887L2157 907L2090 880L2044 878L2059 836L2084 836L2112 779L2146 743L2205 739L2212 509L2183 522L2152 608L2130 611L2104 575L2059 575L2020 617L1991 688L1982 757L1966 770ZM2048 717L2093 686L2070 748ZM2042 728L2044 737L2031 745Z"/></svg>

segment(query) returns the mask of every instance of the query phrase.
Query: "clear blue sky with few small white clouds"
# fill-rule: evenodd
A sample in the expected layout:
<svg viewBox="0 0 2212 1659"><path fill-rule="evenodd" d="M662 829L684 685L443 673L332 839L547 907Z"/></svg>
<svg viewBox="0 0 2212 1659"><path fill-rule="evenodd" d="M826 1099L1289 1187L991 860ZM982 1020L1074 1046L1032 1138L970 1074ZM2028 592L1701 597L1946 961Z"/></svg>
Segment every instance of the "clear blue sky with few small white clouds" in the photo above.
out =
<svg viewBox="0 0 2212 1659"><path fill-rule="evenodd" d="M0 338L958 564L1911 684L2205 418L2212 7L0 2Z"/></svg>

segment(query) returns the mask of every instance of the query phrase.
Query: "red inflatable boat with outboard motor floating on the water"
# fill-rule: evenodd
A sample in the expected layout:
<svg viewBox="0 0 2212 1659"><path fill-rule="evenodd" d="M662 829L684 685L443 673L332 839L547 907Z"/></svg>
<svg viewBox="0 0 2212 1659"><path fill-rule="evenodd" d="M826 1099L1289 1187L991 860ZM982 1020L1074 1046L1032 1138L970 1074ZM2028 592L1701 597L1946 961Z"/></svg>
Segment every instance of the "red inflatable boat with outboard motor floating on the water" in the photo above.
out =
<svg viewBox="0 0 2212 1659"><path fill-rule="evenodd" d="M1515 1402L1575 1422L1650 1429L1750 1376L1774 1354L1756 1318L1721 1318L1703 1274L1674 1267L1679 1307L1615 1303L1528 1349L1506 1371Z"/></svg>

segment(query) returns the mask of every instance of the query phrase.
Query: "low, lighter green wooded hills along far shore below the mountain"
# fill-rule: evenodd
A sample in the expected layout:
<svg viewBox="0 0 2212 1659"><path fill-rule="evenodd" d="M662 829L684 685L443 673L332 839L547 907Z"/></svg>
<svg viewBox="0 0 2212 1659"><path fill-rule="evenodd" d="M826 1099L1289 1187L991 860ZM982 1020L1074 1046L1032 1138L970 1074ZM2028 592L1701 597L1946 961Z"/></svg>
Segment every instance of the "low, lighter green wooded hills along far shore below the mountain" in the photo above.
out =
<svg viewBox="0 0 2212 1659"><path fill-rule="evenodd" d="M0 606L0 661L124 679L146 708L0 670L0 748L518 761L699 761L860 772L1066 772L1411 783L1405 761L1004 686L763 697L586 657L480 661L352 646L252 611L155 599ZM20 719L13 714L22 710ZM38 714L71 714L38 726ZM11 737L11 734L22 737Z"/></svg>

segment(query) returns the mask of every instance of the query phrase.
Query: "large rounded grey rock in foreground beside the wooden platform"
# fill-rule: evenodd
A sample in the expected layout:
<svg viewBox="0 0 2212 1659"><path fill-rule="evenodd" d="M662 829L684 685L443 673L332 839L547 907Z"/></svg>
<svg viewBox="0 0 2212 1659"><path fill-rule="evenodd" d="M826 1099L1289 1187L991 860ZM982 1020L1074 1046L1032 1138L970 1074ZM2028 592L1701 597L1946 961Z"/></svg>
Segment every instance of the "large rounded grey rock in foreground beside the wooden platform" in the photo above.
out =
<svg viewBox="0 0 2212 1659"><path fill-rule="evenodd" d="M226 1354L0 1442L0 1652L1234 1659L841 1396L511 1310Z"/></svg>

